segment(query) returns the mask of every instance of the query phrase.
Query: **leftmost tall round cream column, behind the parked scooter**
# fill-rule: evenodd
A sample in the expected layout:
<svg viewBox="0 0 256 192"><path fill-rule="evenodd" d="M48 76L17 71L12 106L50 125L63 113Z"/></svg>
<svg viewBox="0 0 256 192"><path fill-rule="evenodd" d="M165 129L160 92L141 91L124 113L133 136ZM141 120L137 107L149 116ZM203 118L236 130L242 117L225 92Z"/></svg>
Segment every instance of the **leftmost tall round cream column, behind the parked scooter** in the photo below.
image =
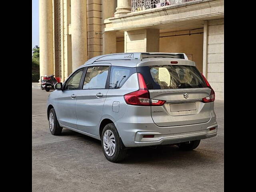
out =
<svg viewBox="0 0 256 192"><path fill-rule="evenodd" d="M39 0L40 76L53 74L52 24L52 0Z"/></svg>

